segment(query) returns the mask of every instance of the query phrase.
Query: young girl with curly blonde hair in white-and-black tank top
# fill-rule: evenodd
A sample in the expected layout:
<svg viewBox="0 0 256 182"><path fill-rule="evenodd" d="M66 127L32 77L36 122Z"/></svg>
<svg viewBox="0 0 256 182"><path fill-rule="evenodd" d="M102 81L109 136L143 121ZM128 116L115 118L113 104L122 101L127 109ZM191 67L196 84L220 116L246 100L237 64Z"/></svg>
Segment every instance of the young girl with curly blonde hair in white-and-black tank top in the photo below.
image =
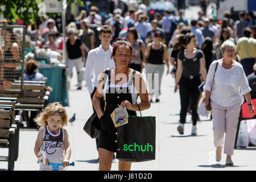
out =
<svg viewBox="0 0 256 182"><path fill-rule="evenodd" d="M67 111L59 102L53 102L35 118L35 122L41 126L34 147L36 157L43 159L40 171L52 171L49 162L63 163L59 170L64 170L71 156L68 132L63 129L68 125Z"/></svg>

